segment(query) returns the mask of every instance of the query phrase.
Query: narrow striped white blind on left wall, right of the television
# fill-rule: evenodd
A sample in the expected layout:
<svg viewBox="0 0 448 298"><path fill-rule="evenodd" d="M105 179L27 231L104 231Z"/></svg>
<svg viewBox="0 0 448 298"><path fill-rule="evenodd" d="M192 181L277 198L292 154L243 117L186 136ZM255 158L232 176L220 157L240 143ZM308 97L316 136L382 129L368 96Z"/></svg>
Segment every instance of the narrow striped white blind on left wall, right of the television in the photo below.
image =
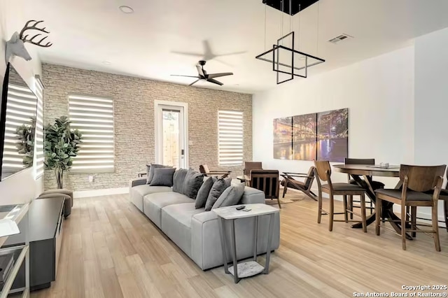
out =
<svg viewBox="0 0 448 298"><path fill-rule="evenodd" d="M36 96L37 96L37 113L36 113L36 139L34 148L36 149L36 170L35 178L43 175L43 162L45 161L43 151L43 85L41 80L36 76Z"/></svg>

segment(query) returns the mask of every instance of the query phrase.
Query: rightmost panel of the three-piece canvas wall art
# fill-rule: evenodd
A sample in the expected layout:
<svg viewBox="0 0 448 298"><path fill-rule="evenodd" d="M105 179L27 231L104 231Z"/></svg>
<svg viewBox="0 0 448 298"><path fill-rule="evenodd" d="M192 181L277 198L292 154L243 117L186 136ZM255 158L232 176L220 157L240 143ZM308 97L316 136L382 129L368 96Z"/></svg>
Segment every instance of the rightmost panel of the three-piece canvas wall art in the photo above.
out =
<svg viewBox="0 0 448 298"><path fill-rule="evenodd" d="M317 159L344 162L349 155L349 109L317 114Z"/></svg>

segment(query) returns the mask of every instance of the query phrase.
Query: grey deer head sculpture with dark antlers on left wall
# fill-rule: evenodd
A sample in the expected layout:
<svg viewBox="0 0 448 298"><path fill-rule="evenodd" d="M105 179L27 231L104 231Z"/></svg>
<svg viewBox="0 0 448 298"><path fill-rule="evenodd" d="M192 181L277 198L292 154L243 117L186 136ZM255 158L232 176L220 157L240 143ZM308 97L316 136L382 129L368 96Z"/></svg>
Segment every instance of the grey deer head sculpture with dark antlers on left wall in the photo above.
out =
<svg viewBox="0 0 448 298"><path fill-rule="evenodd" d="M37 30L49 34L50 31L47 31L45 27L37 27L37 25L41 22L43 21L29 20L27 24L25 24L25 27L23 27L22 31L20 31L20 34L18 32L14 32L10 40L6 42L6 63L8 63L10 57L13 56L22 57L27 61L31 60L31 56L29 55L27 48L25 48L25 43L32 43L33 45L38 45L43 48L48 48L52 45L50 42L44 43L48 36L43 36L43 38L36 41L36 38L42 36L41 33L34 34L31 38L29 38L29 34L25 35L25 31L27 30Z"/></svg>

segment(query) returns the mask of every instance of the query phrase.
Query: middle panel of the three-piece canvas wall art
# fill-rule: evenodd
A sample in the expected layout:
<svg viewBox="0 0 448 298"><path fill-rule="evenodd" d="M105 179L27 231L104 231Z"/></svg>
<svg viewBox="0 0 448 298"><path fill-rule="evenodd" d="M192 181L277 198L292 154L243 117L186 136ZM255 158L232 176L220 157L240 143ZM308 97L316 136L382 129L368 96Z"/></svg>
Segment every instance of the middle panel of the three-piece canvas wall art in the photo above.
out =
<svg viewBox="0 0 448 298"><path fill-rule="evenodd" d="M293 116L293 159L316 159L317 114Z"/></svg>

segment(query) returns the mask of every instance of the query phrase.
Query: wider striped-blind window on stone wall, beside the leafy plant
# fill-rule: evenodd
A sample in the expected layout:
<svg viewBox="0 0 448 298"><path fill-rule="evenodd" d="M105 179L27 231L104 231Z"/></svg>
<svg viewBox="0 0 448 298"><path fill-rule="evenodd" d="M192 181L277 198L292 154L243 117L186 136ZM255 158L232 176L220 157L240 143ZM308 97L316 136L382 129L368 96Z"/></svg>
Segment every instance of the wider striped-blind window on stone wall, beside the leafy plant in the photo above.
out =
<svg viewBox="0 0 448 298"><path fill-rule="evenodd" d="M83 134L71 171L104 173L114 170L113 101L69 95L71 128Z"/></svg>

